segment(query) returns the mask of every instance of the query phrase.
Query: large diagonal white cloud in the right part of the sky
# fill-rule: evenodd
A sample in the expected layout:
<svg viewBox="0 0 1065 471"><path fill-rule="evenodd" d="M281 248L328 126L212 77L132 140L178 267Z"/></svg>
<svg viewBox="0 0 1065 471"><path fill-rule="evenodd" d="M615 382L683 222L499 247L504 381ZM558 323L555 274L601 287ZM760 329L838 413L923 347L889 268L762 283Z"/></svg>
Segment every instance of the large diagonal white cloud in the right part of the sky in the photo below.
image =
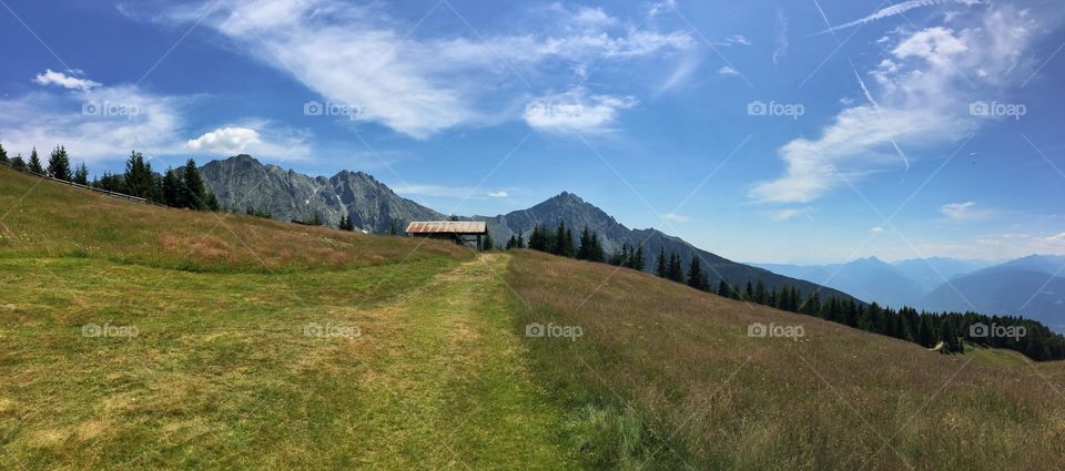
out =
<svg viewBox="0 0 1065 471"><path fill-rule="evenodd" d="M759 203L812 202L848 182L856 186L866 175L899 168L900 162L909 167L902 149L964 139L977 126L967 103L981 91L1024 79L1011 72L1035 31L1032 20L1010 6L982 12L971 23L960 31L897 33L894 47L882 43L888 58L869 73L878 86L865 88L854 71L868 103L840 111L820 136L781 146L784 174L755 184L748 196Z"/></svg>

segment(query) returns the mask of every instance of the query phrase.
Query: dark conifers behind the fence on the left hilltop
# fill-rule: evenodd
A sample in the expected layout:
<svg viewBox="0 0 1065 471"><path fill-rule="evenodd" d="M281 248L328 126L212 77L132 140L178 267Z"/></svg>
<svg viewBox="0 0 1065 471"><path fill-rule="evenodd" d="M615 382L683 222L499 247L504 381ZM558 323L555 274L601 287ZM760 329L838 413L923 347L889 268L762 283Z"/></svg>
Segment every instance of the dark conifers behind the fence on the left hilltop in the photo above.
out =
<svg viewBox="0 0 1065 471"><path fill-rule="evenodd" d="M63 145L52 150L48 163L43 164L37 147L30 152L29 161L24 161L21 154L9 158L8 152L0 144L0 162L9 163L18 171L136 196L165 206L219 211L217 197L203 183L203 176L192 158L179 168L166 168L163 174L158 174L140 152L132 151L125 161L125 172L104 172L92 181L89 180L89 168L84 162L78 168L71 170L70 155Z"/></svg>

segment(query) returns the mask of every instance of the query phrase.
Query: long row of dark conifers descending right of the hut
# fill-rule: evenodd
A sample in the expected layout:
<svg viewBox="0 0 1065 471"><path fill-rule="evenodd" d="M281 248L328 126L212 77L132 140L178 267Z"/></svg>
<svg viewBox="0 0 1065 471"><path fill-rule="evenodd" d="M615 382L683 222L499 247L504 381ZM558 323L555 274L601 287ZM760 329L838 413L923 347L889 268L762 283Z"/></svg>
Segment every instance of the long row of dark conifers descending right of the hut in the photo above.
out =
<svg viewBox="0 0 1065 471"><path fill-rule="evenodd" d="M511 248L530 248L640 272L646 268L642 246L633 247L623 243L610 257L605 257L601 239L597 233L585 227L580 237L575 240L572 232L564 222L559 222L555 229L536 225L528 242L524 233L511 235L507 240L506 249ZM818 290L804 294L795 286L767 288L762 280L747 281L744 286L736 286L728 279L720 278L717 286L713 286L710 283L710 274L702 267L698 254L690 255L691 259L684 268L680 254L667 253L662 247L655 260L655 275L718 296L843 324L914 342L925 348L937 348L943 354L962 354L965 351L965 342L968 342L1020 351L1036 361L1065 359L1065 337L1036 320L1014 316L987 316L972 311L917 311L911 307L895 310L876 303L856 301L851 297L829 296L823 299ZM1023 331L1024 335L1012 337L985 335L986 328L993 326L1000 331Z"/></svg>

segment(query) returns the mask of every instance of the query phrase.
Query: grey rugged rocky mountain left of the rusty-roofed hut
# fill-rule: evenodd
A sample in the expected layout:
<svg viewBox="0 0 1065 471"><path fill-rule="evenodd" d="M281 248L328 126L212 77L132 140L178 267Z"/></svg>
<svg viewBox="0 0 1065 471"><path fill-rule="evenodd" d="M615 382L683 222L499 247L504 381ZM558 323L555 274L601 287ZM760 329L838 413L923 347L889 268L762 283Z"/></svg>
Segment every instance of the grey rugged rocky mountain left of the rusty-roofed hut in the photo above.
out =
<svg viewBox="0 0 1065 471"><path fill-rule="evenodd" d="M277 219L307 219L315 213L336 226L346 215L355 227L387 233L410 221L437 221L445 216L395 194L363 172L343 171L332 177L307 176L264 165L241 154L212 161L200 168L204 183L224 207L268 211Z"/></svg>

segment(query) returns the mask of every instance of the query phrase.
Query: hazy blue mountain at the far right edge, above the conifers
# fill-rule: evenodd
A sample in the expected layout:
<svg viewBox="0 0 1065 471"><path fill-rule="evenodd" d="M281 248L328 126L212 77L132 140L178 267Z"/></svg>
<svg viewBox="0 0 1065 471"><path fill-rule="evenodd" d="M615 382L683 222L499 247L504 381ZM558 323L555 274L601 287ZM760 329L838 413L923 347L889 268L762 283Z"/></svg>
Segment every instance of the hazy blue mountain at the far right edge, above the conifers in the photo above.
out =
<svg viewBox="0 0 1065 471"><path fill-rule="evenodd" d="M1032 255L960 276L925 296L936 310L1021 315L1065 331L1065 257Z"/></svg>

